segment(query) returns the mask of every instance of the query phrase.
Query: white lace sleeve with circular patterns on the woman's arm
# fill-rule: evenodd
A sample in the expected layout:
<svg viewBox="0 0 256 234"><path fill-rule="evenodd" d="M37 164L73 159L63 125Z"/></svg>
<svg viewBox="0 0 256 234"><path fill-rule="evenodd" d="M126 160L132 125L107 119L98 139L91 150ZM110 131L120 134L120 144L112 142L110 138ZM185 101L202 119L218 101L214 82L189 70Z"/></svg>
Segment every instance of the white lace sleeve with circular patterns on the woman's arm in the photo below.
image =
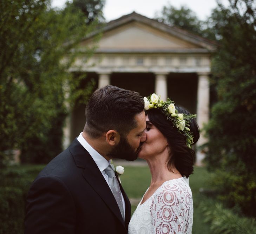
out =
<svg viewBox="0 0 256 234"><path fill-rule="evenodd" d="M150 207L153 233L191 233L193 201L185 181L168 183L155 194Z"/></svg>

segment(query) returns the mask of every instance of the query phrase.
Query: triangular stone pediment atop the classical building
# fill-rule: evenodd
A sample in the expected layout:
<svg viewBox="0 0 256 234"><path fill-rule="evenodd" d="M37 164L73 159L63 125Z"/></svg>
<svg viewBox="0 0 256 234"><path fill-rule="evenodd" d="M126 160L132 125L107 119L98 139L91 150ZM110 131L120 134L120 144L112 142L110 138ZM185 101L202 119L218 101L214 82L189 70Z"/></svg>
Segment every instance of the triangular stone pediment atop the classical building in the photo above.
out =
<svg viewBox="0 0 256 234"><path fill-rule="evenodd" d="M215 45L181 29L167 26L133 12L110 21L102 30L98 52L156 52L215 50ZM88 46L90 39L81 42Z"/></svg>

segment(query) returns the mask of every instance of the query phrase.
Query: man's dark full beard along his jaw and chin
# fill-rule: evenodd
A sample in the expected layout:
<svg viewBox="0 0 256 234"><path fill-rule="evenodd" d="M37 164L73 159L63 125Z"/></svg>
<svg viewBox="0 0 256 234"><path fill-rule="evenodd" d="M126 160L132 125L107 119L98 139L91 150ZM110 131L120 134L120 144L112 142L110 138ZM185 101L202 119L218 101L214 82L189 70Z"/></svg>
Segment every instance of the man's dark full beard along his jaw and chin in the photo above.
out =
<svg viewBox="0 0 256 234"><path fill-rule="evenodd" d="M127 141L126 137L121 136L118 145L109 154L107 154L107 156L110 156L111 158L134 161L138 158L140 147L141 145L139 145L139 147L134 150Z"/></svg>

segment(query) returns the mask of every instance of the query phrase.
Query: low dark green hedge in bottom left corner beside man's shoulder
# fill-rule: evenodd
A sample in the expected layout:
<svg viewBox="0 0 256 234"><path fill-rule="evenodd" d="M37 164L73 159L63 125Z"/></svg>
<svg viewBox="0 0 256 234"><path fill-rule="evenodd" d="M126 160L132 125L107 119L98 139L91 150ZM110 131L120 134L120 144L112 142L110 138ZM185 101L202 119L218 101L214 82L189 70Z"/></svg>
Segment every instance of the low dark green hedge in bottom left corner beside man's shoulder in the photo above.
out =
<svg viewBox="0 0 256 234"><path fill-rule="evenodd" d="M10 167L0 172L0 234L23 234L28 189L44 165Z"/></svg>

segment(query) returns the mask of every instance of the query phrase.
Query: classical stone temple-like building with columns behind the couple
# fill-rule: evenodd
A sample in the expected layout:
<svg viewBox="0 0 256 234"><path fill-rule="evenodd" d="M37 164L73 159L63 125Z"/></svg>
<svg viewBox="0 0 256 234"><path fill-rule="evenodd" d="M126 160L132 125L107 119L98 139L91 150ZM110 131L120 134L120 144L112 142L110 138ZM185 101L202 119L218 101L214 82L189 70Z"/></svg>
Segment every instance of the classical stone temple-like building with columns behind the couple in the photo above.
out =
<svg viewBox="0 0 256 234"><path fill-rule="evenodd" d="M112 20L102 29L96 53L87 60L77 59L79 71L94 78L97 86L107 84L170 97L175 103L197 114L202 128L209 118L209 75L211 54L216 45L176 27L132 12ZM81 51L92 45L92 38L81 42ZM86 62L85 62L86 61ZM70 72L77 72L73 67ZM66 144L83 129L85 106L74 109L65 129ZM202 136L197 145L205 142ZM203 154L197 151L197 164Z"/></svg>

